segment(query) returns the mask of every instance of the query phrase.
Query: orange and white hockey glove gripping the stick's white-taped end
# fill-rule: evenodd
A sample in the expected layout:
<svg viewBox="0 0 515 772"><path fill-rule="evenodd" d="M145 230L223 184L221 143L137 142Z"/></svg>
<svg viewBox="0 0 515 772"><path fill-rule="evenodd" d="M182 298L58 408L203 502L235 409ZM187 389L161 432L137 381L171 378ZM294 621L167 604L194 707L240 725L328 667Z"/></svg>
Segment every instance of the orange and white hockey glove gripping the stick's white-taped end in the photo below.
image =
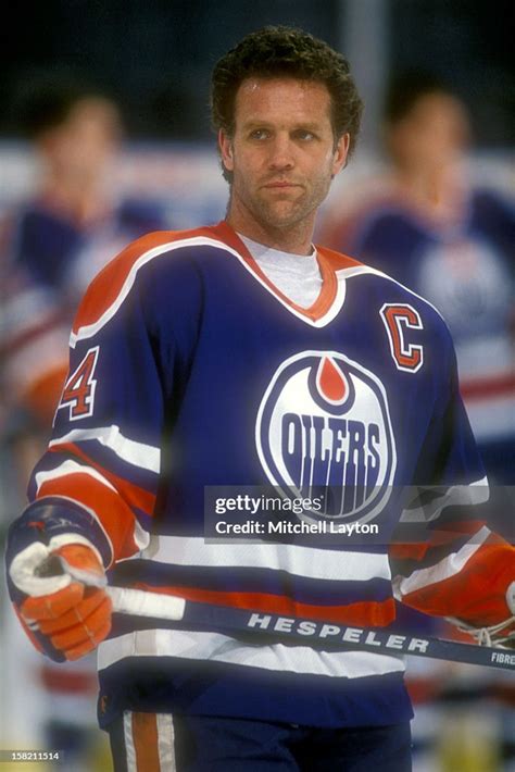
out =
<svg viewBox="0 0 515 772"><path fill-rule="evenodd" d="M13 602L38 650L55 661L75 660L108 635L112 603L97 549L75 534L52 540L34 543L11 561L20 590Z"/></svg>

